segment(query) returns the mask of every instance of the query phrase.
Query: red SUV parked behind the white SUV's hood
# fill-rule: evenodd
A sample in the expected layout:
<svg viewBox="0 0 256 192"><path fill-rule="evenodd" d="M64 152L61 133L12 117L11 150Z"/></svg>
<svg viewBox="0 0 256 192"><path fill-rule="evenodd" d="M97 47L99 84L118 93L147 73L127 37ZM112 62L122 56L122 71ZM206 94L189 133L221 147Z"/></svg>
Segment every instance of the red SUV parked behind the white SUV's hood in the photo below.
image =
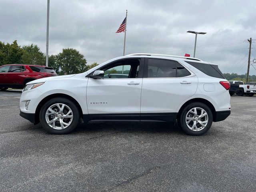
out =
<svg viewBox="0 0 256 192"><path fill-rule="evenodd" d="M54 68L28 65L10 64L0 66L0 89L24 88L27 82L50 76L56 76Z"/></svg>

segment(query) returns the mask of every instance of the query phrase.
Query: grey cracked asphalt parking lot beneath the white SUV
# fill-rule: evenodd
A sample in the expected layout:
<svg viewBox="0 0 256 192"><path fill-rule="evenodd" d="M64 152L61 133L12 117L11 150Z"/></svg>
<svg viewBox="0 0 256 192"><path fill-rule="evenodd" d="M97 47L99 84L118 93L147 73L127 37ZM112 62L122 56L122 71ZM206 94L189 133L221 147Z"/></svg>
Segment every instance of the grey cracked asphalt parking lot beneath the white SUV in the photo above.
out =
<svg viewBox="0 0 256 192"><path fill-rule="evenodd" d="M256 191L256 96L203 136L170 123L91 122L48 134L0 92L0 191Z"/></svg>

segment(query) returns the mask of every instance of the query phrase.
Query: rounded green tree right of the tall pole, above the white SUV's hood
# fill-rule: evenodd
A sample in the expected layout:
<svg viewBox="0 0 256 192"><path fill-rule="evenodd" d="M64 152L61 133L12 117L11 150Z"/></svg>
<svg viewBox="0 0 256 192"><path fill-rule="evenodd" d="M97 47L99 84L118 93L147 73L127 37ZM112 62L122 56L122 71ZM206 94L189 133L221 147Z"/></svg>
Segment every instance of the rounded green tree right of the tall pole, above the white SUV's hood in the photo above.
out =
<svg viewBox="0 0 256 192"><path fill-rule="evenodd" d="M73 48L62 49L56 55L56 64L60 66L60 75L82 73L87 69L84 55Z"/></svg>

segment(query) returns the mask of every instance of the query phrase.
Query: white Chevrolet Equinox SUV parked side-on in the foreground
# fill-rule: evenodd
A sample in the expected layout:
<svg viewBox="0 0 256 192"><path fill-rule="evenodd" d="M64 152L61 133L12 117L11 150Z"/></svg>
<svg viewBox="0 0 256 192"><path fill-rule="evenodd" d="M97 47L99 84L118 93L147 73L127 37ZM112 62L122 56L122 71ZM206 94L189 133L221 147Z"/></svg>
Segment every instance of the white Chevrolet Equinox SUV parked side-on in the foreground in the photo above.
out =
<svg viewBox="0 0 256 192"><path fill-rule="evenodd" d="M217 65L197 58L130 54L81 74L27 83L20 116L66 134L89 121L176 122L206 133L230 115L230 83Z"/></svg>

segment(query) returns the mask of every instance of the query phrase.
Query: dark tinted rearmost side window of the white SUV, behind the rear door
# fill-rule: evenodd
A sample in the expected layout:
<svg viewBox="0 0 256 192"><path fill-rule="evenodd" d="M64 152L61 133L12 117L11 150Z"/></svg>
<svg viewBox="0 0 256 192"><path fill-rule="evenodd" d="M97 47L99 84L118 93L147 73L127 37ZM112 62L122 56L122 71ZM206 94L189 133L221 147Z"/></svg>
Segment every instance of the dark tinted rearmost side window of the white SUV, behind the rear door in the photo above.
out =
<svg viewBox="0 0 256 192"><path fill-rule="evenodd" d="M192 65L193 67L197 68L198 70L202 71L204 74L208 76L225 79L224 75L218 68L218 65L197 63L197 62L191 62L191 61L186 61L186 62Z"/></svg>

